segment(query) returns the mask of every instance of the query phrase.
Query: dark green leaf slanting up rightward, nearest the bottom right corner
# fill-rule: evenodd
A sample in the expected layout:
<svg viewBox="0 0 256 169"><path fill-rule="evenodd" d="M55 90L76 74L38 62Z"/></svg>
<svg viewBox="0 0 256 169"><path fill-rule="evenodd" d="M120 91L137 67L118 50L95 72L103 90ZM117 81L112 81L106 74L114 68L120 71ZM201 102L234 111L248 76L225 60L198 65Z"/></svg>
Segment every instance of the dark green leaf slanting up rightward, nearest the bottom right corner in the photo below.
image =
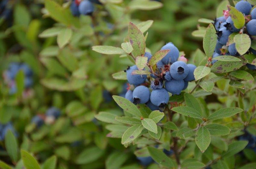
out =
<svg viewBox="0 0 256 169"><path fill-rule="evenodd" d="M248 144L248 141L234 141L233 143L228 145L228 151L223 152L221 157L227 158L227 157L233 156L236 153L242 151L247 144Z"/></svg>

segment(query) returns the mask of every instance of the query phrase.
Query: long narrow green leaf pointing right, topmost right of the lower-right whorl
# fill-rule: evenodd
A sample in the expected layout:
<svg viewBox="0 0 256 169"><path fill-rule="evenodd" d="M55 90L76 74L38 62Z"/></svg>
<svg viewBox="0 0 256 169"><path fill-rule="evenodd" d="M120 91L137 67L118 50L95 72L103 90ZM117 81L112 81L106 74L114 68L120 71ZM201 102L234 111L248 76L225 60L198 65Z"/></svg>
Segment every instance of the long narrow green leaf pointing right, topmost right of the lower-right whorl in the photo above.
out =
<svg viewBox="0 0 256 169"><path fill-rule="evenodd" d="M213 121L217 119L222 119L226 117L231 117L237 113L240 113L244 111L241 108L238 107L227 107L227 108L222 108L220 110L217 110L216 112L212 113L209 117L208 120Z"/></svg>

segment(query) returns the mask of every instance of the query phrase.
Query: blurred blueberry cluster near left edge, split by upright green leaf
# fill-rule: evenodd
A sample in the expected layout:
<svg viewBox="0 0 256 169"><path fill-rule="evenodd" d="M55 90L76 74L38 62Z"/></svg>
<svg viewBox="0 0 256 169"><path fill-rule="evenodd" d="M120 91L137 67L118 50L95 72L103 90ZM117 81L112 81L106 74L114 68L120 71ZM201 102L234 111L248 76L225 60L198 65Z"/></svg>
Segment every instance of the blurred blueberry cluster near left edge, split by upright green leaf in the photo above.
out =
<svg viewBox="0 0 256 169"><path fill-rule="evenodd" d="M10 94L14 94L17 91L15 77L20 70L22 70L25 75L25 88L28 89L33 85L33 71L30 67L25 63L12 62L8 70L4 71L4 81L10 87Z"/></svg>

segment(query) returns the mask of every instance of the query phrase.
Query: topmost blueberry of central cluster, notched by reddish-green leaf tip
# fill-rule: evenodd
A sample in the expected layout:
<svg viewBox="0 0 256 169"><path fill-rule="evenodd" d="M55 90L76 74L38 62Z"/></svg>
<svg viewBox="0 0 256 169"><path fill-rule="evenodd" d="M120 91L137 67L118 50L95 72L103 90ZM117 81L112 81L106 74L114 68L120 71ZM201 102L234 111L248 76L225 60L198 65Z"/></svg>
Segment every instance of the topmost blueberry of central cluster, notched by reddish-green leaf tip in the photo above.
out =
<svg viewBox="0 0 256 169"><path fill-rule="evenodd" d="M161 50L164 50L164 49L170 50L170 52L168 52L167 55L165 55L164 58L162 59L162 62L164 64L173 63L178 60L180 52L178 48L176 48L176 46L173 45L172 42L167 43L161 48Z"/></svg>

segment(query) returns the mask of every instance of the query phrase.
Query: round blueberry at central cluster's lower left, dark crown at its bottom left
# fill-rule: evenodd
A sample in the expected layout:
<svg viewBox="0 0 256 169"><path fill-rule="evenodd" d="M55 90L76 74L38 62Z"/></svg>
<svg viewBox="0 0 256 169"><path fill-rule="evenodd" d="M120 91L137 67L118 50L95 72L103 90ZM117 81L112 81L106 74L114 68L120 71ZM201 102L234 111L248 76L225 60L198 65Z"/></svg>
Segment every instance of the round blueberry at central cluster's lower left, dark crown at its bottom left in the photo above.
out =
<svg viewBox="0 0 256 169"><path fill-rule="evenodd" d="M149 89L146 86L138 86L134 89L132 93L134 103L144 104L147 103L150 98Z"/></svg>

